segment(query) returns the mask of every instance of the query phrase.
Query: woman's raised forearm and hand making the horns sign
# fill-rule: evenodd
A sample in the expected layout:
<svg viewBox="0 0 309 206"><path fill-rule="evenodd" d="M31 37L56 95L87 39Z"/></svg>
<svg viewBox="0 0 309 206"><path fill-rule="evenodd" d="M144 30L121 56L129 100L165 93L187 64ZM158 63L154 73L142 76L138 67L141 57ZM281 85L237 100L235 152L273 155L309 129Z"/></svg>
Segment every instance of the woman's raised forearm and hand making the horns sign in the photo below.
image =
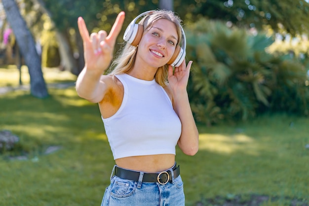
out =
<svg viewBox="0 0 309 206"><path fill-rule="evenodd" d="M89 36L84 20L79 17L78 30L83 40L85 67L77 77L77 94L90 102L102 101L108 84L102 75L108 69L116 43L124 21L124 12L120 12L109 35L105 31L92 33Z"/></svg>

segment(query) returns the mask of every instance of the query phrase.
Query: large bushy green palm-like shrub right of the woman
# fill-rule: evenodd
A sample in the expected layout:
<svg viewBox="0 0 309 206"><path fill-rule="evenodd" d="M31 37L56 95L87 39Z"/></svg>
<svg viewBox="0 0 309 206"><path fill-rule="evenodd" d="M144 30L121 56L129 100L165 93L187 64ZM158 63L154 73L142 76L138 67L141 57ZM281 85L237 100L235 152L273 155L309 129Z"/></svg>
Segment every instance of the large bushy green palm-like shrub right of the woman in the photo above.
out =
<svg viewBox="0 0 309 206"><path fill-rule="evenodd" d="M187 59L193 60L188 90L198 121L247 120L269 111L308 114L307 70L267 53L271 36L205 19L186 27L186 34Z"/></svg>

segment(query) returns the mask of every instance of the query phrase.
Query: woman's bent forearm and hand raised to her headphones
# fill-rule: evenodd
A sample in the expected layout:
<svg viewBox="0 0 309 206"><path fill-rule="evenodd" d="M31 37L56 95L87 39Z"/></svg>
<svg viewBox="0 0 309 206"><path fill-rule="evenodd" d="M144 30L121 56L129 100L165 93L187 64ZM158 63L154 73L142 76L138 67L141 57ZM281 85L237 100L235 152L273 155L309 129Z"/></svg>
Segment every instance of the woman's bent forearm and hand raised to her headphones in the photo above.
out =
<svg viewBox="0 0 309 206"><path fill-rule="evenodd" d="M178 140L179 148L187 155L194 155L198 151L198 131L191 111L187 84L192 61L184 62L175 68L168 68L168 81L173 92L173 107L182 123L182 133Z"/></svg>

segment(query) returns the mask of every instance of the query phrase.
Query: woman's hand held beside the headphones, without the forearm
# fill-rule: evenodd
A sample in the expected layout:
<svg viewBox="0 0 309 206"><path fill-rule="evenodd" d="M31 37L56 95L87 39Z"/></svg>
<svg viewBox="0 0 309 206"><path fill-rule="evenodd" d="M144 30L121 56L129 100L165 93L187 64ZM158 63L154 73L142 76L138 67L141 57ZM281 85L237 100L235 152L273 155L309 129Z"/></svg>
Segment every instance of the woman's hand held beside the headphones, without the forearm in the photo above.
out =
<svg viewBox="0 0 309 206"><path fill-rule="evenodd" d="M179 67L176 67L173 73L173 67L168 66L168 82L173 91L183 91L187 89L189 74L192 61L186 66L184 60Z"/></svg>

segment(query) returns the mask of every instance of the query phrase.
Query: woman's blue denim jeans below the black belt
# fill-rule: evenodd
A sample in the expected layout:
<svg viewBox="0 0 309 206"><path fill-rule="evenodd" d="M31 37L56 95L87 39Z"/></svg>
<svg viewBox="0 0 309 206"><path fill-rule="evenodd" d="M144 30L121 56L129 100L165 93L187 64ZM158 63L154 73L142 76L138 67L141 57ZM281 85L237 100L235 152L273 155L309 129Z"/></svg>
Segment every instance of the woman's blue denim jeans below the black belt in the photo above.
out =
<svg viewBox="0 0 309 206"><path fill-rule="evenodd" d="M143 172L138 182L114 175L105 190L101 206L184 206L184 183L180 175L174 178L171 173L172 182L165 185L142 182Z"/></svg>

